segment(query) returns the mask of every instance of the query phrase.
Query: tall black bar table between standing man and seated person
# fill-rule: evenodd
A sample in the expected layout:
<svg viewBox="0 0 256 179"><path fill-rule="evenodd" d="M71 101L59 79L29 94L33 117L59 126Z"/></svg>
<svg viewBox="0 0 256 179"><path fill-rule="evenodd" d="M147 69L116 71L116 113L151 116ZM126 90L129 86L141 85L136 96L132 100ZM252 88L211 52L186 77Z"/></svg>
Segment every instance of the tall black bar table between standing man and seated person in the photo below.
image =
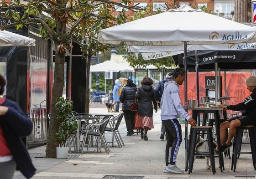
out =
<svg viewBox="0 0 256 179"><path fill-rule="evenodd" d="M200 113L203 113L203 125L206 125L208 114L209 113L214 114L214 122L215 122L216 135L217 135L217 145L218 145L218 148L220 148L221 143L220 143L220 134L219 134L219 125L220 125L219 111L223 111L224 121L227 120L226 111L224 111L223 108L221 108L221 107L189 107L188 109L192 110L192 118L194 120L197 120L198 125L200 125L200 119L198 119ZM223 170L225 169L224 168L224 160L223 160L223 154L220 153L220 150L219 150L218 155L219 155L220 171L223 172Z"/></svg>

